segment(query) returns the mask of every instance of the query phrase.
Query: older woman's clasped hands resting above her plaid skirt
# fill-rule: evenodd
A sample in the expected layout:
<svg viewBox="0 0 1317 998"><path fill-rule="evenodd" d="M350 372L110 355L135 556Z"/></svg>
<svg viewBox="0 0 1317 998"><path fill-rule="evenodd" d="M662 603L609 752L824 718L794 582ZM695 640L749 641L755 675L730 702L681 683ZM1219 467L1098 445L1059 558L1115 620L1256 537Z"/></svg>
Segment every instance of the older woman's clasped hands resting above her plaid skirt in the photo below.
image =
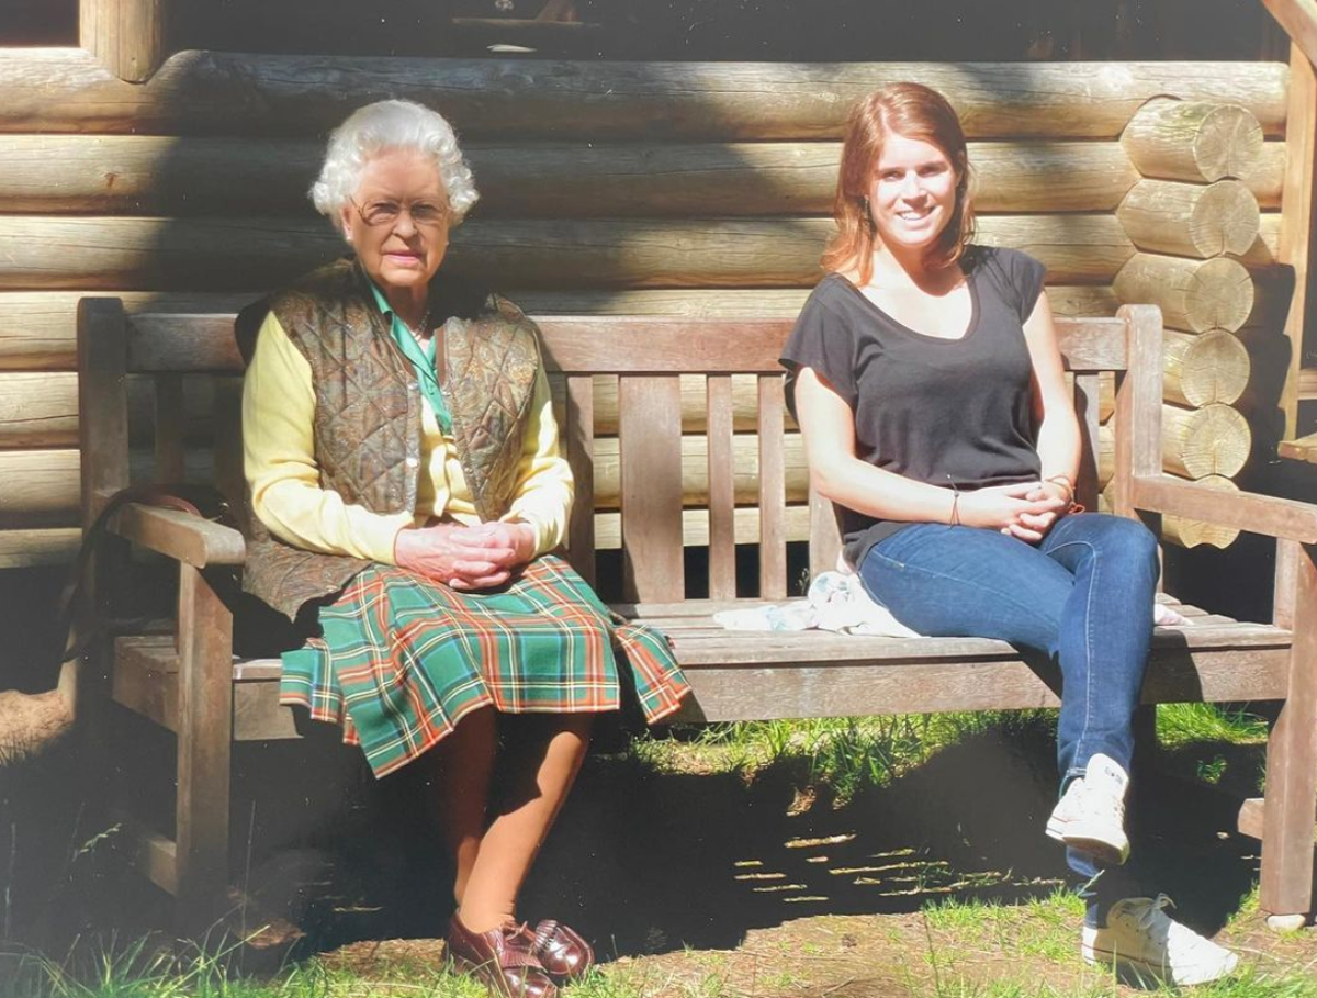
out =
<svg viewBox="0 0 1317 998"><path fill-rule="evenodd" d="M399 567L461 590L493 589L535 556L535 529L525 523L439 523L398 532Z"/></svg>

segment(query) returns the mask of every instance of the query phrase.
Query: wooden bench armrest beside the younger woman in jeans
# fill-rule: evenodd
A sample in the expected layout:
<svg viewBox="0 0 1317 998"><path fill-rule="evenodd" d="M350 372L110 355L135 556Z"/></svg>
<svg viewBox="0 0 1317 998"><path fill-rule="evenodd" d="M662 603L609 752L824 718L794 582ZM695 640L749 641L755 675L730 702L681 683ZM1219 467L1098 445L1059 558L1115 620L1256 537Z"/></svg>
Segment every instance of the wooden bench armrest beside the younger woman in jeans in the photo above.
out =
<svg viewBox="0 0 1317 998"><path fill-rule="evenodd" d="M1317 506L1256 492L1222 492L1173 475L1135 475L1134 508L1317 544Z"/></svg>

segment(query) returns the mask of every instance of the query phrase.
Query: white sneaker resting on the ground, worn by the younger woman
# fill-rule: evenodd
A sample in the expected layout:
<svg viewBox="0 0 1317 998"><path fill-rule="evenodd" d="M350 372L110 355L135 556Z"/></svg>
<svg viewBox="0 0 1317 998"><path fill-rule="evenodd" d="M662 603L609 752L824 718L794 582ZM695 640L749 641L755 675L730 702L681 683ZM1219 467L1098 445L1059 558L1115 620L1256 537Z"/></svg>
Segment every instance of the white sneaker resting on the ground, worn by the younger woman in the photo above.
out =
<svg viewBox="0 0 1317 998"><path fill-rule="evenodd" d="M1084 927L1084 960L1143 985L1208 984L1234 970L1239 957L1167 915L1162 908L1171 905L1166 894L1115 902L1106 928Z"/></svg>

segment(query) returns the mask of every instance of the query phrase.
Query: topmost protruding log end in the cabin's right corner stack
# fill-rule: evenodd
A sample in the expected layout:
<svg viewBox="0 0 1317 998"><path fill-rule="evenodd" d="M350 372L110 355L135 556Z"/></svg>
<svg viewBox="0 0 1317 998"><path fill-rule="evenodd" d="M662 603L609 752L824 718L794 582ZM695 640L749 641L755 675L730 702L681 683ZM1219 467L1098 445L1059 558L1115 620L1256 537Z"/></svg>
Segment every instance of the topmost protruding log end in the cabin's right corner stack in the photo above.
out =
<svg viewBox="0 0 1317 998"><path fill-rule="evenodd" d="M1247 108L1229 99L1158 97L1139 108L1121 144L1144 176L1212 183L1259 169L1263 129Z"/></svg>

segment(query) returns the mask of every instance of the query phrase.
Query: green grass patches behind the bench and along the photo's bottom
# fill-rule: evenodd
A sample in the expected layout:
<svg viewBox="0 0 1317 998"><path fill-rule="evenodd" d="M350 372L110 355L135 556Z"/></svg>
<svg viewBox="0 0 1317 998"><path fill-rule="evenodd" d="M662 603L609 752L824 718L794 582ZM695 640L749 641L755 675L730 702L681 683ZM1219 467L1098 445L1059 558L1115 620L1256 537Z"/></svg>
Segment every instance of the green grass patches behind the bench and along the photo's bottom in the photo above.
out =
<svg viewBox="0 0 1317 998"><path fill-rule="evenodd" d="M678 729L636 739L630 757L657 772L734 772L745 779L786 765L810 785L826 785L846 801L865 786L885 786L946 747L976 735L1051 737L1055 712L900 715L840 720L772 722ZM1210 779L1225 765L1225 745L1252 745L1266 724L1242 711L1173 704L1158 712L1158 737L1198 761ZM1204 753L1204 745L1212 748ZM1256 893L1241 899L1235 927L1256 922ZM882 998L1127 998L1134 991L1109 973L1085 968L1077 956L1083 903L1058 891L1005 905L948 897L915 916L919 928L878 916L872 933L878 959L890 961L902 991ZM1230 936L1237 930L1227 927ZM1242 930L1241 930L1242 931ZM814 945L814 944L811 944ZM1264 944L1266 945L1266 944ZM1310 949L1310 947L1309 947ZM735 953L736 951L732 951ZM437 953L437 949L436 949ZM778 998L815 994L811 966L828 962L802 947L793 962L766 962L745 980L718 952L666 953L605 965L564 998ZM233 973L233 951L179 955L155 937L103 947L82 944L62 959L0 948L0 998L482 998L483 987L448 973L436 960L375 960L353 965L335 956L312 959L262 980ZM1271 960L1229 981L1193 989L1195 998L1317 998L1317 974ZM826 990L826 989L824 989ZM838 994L863 994L840 990ZM874 993L878 994L878 993ZM1163 989L1154 994L1179 994Z"/></svg>

